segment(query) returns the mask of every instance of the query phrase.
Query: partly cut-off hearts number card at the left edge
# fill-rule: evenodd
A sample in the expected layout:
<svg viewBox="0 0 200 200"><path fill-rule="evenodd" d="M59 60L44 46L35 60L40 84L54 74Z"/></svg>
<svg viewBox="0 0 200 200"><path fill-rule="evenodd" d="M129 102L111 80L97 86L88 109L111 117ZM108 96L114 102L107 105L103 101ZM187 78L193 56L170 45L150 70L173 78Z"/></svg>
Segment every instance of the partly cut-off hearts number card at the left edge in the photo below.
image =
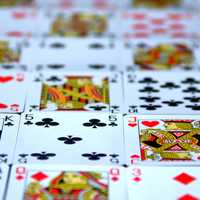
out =
<svg viewBox="0 0 200 200"><path fill-rule="evenodd" d="M25 106L27 74L21 72L1 72L0 113L21 113Z"/></svg>

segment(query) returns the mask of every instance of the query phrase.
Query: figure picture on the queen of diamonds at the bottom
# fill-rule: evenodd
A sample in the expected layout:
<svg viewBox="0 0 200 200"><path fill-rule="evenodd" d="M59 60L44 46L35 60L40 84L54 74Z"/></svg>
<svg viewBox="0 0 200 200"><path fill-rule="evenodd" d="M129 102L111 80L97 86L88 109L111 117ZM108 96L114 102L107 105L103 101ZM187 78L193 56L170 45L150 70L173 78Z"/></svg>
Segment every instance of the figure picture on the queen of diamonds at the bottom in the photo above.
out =
<svg viewBox="0 0 200 200"><path fill-rule="evenodd" d="M108 199L108 174L103 172L42 172L29 175L24 200Z"/></svg>

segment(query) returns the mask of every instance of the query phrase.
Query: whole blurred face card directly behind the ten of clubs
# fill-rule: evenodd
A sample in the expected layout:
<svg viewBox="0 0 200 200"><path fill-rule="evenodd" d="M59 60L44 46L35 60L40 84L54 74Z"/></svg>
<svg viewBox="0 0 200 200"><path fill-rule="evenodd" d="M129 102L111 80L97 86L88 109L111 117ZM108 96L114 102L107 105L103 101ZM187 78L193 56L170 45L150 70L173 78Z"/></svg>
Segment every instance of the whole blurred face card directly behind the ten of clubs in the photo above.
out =
<svg viewBox="0 0 200 200"><path fill-rule="evenodd" d="M123 65L134 70L198 70L199 47L196 42L181 39L138 39L127 42Z"/></svg>

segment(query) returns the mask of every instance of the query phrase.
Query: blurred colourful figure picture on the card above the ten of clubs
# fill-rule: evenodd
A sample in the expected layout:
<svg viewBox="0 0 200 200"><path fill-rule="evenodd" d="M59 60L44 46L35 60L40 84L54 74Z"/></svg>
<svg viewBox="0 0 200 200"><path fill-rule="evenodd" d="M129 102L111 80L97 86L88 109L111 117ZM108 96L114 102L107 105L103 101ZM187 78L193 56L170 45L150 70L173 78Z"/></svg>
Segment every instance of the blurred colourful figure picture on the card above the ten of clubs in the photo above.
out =
<svg viewBox="0 0 200 200"><path fill-rule="evenodd" d="M134 63L146 70L170 70L173 68L192 68L194 52L187 44L161 43L155 46L138 45Z"/></svg>

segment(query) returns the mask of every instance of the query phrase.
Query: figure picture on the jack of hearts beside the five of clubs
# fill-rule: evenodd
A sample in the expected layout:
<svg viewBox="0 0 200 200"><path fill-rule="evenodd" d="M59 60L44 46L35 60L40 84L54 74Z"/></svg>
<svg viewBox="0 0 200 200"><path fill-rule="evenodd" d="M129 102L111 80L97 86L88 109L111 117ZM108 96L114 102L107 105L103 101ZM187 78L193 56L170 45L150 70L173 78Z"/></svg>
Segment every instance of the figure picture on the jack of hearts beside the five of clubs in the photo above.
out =
<svg viewBox="0 0 200 200"><path fill-rule="evenodd" d="M147 120L139 124L142 160L200 160L200 121Z"/></svg>

